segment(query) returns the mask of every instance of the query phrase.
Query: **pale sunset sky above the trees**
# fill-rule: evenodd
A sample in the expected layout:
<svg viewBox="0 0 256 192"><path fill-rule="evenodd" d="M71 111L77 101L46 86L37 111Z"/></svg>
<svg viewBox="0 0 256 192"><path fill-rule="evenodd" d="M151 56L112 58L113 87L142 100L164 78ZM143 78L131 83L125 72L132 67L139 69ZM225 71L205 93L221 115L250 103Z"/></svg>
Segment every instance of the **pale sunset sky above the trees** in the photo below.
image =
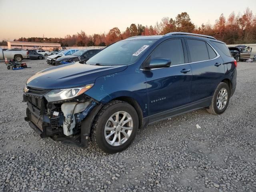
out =
<svg viewBox="0 0 256 192"><path fill-rule="evenodd" d="M187 12L196 26L214 24L220 14L256 14L256 0L0 0L0 40L121 32L130 24L155 25Z"/></svg>

